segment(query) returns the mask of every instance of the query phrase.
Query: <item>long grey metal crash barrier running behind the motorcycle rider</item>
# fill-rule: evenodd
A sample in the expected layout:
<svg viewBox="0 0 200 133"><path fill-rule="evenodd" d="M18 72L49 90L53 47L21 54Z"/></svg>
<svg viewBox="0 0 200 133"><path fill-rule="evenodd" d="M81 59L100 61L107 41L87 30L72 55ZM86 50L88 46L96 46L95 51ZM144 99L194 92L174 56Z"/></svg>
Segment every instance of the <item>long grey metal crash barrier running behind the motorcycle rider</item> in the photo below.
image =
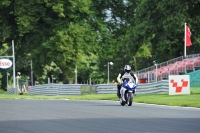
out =
<svg viewBox="0 0 200 133"><path fill-rule="evenodd" d="M138 84L137 94L168 93L168 80L157 83ZM116 84L43 84L30 88L30 95L81 95L81 94L116 94Z"/></svg>

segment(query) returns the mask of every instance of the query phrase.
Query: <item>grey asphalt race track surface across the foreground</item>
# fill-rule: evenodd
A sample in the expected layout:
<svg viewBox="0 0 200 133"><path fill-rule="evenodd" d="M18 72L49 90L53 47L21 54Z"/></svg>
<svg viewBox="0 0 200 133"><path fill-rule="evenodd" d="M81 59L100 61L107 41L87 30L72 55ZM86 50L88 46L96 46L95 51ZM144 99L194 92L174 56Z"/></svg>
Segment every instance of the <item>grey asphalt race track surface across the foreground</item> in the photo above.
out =
<svg viewBox="0 0 200 133"><path fill-rule="evenodd" d="M116 101L0 100L0 133L200 133L200 108Z"/></svg>

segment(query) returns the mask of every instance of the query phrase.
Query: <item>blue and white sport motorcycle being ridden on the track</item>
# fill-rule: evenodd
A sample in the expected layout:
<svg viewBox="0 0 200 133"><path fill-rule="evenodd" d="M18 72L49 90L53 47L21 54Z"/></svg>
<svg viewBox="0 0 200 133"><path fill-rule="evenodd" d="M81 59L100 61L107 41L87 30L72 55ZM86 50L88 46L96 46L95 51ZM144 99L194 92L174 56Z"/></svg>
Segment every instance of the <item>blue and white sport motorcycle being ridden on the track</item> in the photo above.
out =
<svg viewBox="0 0 200 133"><path fill-rule="evenodd" d="M125 104L127 104L128 106L132 105L136 88L137 88L137 84L135 84L132 78L123 79L122 88L120 90L120 94L121 94L120 104L122 106L124 106ZM124 99L123 99L123 95L124 95Z"/></svg>

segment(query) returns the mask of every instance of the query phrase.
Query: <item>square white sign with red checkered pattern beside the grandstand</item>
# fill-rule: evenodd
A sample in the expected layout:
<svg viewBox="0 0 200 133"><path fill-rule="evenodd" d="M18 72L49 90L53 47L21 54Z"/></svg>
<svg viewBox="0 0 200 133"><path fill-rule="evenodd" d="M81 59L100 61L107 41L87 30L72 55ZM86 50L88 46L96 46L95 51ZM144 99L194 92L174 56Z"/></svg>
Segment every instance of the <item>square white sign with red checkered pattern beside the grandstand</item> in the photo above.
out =
<svg viewBox="0 0 200 133"><path fill-rule="evenodd" d="M189 75L169 75L169 95L190 94Z"/></svg>

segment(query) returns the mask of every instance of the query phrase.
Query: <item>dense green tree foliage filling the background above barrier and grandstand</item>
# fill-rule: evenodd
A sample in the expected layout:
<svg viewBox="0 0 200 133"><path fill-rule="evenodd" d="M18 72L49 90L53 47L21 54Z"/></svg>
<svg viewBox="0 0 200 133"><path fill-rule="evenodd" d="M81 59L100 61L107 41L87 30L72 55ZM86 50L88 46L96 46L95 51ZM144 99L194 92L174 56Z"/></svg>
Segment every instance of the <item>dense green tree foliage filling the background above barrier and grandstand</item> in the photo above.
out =
<svg viewBox="0 0 200 133"><path fill-rule="evenodd" d="M187 53L198 53L200 0L1 0L0 53L12 55L14 40L16 72L30 77L32 60L39 83L74 83L76 67L78 83L105 83L110 61L112 81L125 64L137 71L182 56L185 22Z"/></svg>

